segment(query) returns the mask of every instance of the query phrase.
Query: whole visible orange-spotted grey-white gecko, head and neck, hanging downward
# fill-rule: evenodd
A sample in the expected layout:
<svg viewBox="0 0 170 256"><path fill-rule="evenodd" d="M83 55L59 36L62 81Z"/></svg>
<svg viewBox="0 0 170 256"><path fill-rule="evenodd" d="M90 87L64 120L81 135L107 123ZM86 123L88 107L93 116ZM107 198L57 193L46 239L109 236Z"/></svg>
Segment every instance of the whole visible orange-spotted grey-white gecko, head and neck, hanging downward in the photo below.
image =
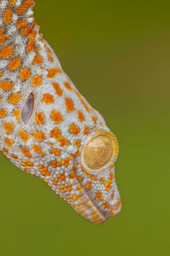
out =
<svg viewBox="0 0 170 256"><path fill-rule="evenodd" d="M0 150L94 223L121 209L118 142L38 33L32 0L0 1Z"/></svg>

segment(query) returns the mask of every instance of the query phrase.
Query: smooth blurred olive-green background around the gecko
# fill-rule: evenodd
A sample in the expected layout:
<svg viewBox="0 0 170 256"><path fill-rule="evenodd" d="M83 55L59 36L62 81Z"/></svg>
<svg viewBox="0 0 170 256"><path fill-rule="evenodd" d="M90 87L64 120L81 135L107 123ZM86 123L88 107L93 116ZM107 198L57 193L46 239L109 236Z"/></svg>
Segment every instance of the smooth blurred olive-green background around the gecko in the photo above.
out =
<svg viewBox="0 0 170 256"><path fill-rule="evenodd" d="M170 255L170 2L36 0L34 13L118 138L122 210L92 224L0 155L1 255Z"/></svg>

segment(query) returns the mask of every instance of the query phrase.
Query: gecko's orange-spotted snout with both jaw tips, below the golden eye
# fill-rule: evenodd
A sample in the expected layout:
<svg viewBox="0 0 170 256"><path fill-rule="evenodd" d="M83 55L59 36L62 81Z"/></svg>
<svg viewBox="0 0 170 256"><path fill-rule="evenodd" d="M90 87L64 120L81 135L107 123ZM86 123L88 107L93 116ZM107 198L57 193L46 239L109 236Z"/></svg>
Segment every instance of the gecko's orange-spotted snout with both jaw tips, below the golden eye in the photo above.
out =
<svg viewBox="0 0 170 256"><path fill-rule="evenodd" d="M121 200L115 182L114 167L92 176L81 166L75 169L79 190L73 195L73 208L88 221L103 223L121 210Z"/></svg>

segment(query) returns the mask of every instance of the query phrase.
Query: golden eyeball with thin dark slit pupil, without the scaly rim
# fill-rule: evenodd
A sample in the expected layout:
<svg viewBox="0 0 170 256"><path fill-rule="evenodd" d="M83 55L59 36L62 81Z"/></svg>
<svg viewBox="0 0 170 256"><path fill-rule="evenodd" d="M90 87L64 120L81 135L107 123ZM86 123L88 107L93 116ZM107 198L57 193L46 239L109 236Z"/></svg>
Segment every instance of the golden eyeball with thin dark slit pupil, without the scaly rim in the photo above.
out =
<svg viewBox="0 0 170 256"><path fill-rule="evenodd" d="M84 163L96 170L105 166L112 158L113 142L108 136L100 134L89 140L84 148Z"/></svg>

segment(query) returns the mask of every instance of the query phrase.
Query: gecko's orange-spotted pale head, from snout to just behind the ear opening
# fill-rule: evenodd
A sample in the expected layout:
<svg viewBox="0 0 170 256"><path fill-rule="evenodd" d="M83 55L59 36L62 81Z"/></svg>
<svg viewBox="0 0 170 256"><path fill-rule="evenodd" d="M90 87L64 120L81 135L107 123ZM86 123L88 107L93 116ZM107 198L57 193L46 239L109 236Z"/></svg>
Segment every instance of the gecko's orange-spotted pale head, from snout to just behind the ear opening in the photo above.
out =
<svg viewBox="0 0 170 256"><path fill-rule="evenodd" d="M117 139L62 71L49 83L42 82L43 74L39 86L22 88L17 104L18 93L10 96L8 115L1 119L1 150L84 218L105 222L121 209L114 169Z"/></svg>

